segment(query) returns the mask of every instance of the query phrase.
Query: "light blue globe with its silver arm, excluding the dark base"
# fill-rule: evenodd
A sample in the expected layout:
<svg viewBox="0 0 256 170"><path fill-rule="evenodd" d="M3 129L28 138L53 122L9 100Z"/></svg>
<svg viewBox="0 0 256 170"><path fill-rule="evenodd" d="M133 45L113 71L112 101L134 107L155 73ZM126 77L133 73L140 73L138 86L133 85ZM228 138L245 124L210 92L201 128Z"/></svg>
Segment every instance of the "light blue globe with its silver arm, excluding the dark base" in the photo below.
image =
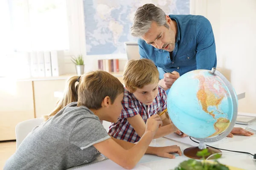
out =
<svg viewBox="0 0 256 170"><path fill-rule="evenodd" d="M201 142L215 142L227 136L236 123L237 96L215 68L195 70L173 83L167 95L167 110L180 131Z"/></svg>

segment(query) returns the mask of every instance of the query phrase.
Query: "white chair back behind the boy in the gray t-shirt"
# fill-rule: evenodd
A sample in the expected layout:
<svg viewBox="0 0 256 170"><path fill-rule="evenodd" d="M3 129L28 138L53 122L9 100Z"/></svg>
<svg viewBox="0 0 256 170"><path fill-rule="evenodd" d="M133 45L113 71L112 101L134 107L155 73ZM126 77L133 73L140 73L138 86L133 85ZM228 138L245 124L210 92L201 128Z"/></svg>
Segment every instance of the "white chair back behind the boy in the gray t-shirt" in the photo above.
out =
<svg viewBox="0 0 256 170"><path fill-rule="evenodd" d="M23 139L32 131L36 126L41 125L44 122L44 118L35 118L20 122L15 127L16 132L16 149L20 146Z"/></svg>

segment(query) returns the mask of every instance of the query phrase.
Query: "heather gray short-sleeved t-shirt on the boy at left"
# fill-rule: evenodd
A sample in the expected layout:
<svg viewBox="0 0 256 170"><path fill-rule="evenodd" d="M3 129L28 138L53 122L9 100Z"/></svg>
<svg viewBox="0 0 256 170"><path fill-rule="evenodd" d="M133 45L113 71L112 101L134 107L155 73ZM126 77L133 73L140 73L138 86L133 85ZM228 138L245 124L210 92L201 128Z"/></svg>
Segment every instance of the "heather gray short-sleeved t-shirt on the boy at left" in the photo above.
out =
<svg viewBox="0 0 256 170"><path fill-rule="evenodd" d="M109 139L99 117L86 107L70 103L35 127L4 170L60 170L93 161L99 151L93 144Z"/></svg>

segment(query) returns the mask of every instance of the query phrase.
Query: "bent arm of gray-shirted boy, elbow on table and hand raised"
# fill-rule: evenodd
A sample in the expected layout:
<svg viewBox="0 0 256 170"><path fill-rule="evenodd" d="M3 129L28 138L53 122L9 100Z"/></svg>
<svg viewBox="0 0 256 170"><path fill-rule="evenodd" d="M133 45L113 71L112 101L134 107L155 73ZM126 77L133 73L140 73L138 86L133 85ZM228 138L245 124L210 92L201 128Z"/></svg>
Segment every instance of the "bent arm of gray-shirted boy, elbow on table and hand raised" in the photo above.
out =
<svg viewBox="0 0 256 170"><path fill-rule="evenodd" d="M116 162L120 166L132 169L145 154L148 145L154 137L158 127L162 125L162 121L158 115L152 116L146 122L146 130L140 141L128 150L125 150L113 139L93 144L100 153Z"/></svg>

